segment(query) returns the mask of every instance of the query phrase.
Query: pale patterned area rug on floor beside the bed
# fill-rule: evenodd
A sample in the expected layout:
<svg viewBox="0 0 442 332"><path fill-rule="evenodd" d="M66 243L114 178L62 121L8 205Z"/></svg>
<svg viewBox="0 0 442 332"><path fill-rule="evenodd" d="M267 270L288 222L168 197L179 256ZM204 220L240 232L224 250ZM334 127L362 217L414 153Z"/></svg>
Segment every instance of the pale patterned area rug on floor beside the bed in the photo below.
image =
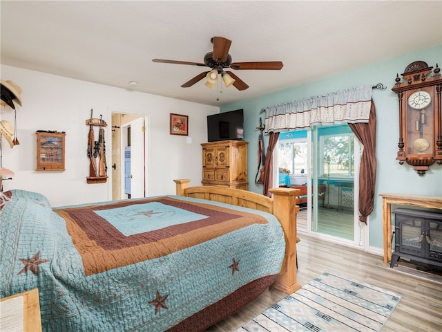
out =
<svg viewBox="0 0 442 332"><path fill-rule="evenodd" d="M351 277L323 273L236 332L381 331L401 297Z"/></svg>

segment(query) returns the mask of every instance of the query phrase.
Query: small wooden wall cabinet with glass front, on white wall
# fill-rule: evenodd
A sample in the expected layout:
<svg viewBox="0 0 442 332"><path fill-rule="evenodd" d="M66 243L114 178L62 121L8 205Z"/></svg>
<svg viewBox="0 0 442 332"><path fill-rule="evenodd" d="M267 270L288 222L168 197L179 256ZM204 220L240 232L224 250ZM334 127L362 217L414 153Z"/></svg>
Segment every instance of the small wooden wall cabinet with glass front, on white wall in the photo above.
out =
<svg viewBox="0 0 442 332"><path fill-rule="evenodd" d="M37 131L37 171L64 171L66 133Z"/></svg>

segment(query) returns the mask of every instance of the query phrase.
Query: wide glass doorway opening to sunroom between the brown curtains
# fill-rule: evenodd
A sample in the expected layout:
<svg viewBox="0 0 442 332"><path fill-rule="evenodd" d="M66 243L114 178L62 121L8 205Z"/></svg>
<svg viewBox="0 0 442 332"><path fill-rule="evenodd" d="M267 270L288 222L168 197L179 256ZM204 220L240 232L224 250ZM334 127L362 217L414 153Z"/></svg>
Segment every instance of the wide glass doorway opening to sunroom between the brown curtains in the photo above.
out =
<svg viewBox="0 0 442 332"><path fill-rule="evenodd" d="M363 246L354 181L360 156L361 146L347 124L280 133L279 184L289 167L290 185L307 185L307 232Z"/></svg>

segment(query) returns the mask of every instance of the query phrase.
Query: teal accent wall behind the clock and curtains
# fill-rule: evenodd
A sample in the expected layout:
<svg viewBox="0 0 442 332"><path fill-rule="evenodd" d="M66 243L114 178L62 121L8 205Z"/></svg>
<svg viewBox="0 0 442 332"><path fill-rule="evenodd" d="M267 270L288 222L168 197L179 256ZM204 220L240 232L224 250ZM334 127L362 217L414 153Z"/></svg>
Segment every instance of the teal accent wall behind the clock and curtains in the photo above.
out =
<svg viewBox="0 0 442 332"><path fill-rule="evenodd" d="M354 86L382 83L387 86L387 89L374 89L373 91L377 120L377 172L374 211L369 216L369 245L383 248L382 201L381 197L378 196L379 194L388 192L442 196L442 165L434 164L430 168L430 172L427 172L425 176L419 176L411 166L399 165L396 160L399 137L398 98L396 93L392 91L392 87L395 83L396 73L401 75L408 64L417 60L427 62L429 66L436 66L436 63L442 66L442 45L393 59L385 59L382 62L354 68L314 82L221 107L220 111L222 112L244 109L244 140L249 142L249 190L262 194L262 186L256 185L254 181L258 167L259 131L256 130L256 127L259 126L259 117L262 116L264 120L265 116L264 113L260 114L261 109L290 100L323 95ZM324 54L324 61L327 61L327 53ZM330 66L333 66L333 64L330 64ZM256 73L256 75L265 75L265 71ZM296 73L293 73L293 75L296 75ZM249 89L253 89L253 84L250 84L250 86ZM265 143L267 147L267 137L265 137Z"/></svg>

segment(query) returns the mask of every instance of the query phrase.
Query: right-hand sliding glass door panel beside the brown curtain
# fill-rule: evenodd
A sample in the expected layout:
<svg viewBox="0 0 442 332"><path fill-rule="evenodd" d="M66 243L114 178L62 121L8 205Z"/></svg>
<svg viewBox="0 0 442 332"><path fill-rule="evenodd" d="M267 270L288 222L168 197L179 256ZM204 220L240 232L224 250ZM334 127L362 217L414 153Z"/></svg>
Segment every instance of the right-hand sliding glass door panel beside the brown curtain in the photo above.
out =
<svg viewBox="0 0 442 332"><path fill-rule="evenodd" d="M354 241L357 201L354 178L355 165L359 165L354 134L347 125L314 127L313 131L312 157L316 170L313 182L318 188L318 200L311 229Z"/></svg>

